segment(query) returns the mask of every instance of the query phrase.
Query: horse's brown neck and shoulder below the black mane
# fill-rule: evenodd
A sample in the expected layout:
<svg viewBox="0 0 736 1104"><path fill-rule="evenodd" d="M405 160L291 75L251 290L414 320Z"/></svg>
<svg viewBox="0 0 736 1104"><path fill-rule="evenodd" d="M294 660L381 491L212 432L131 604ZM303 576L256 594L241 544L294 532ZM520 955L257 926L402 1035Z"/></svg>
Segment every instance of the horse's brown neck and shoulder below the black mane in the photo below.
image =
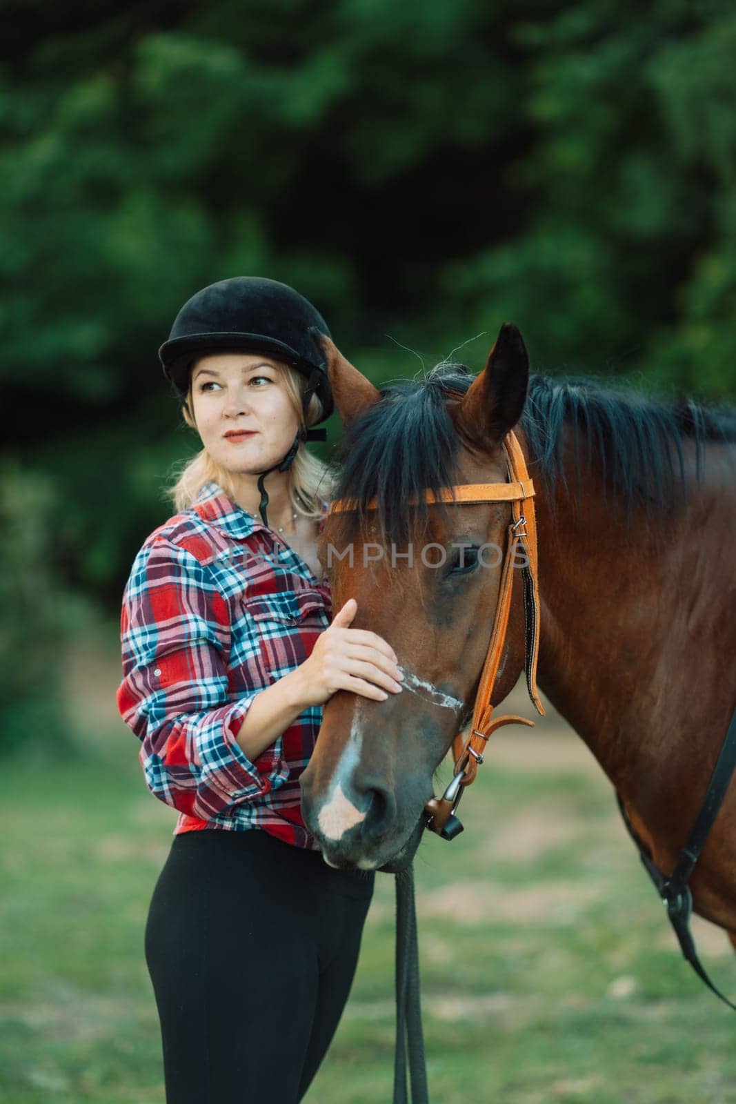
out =
<svg viewBox="0 0 736 1104"><path fill-rule="evenodd" d="M683 454L689 505L674 516L640 510L623 528L595 471L584 476L582 508L562 488L536 500L540 686L664 872L705 796L736 701L736 450L708 442L700 481L692 443ZM695 910L732 932L735 840L732 786L691 880Z"/></svg>

